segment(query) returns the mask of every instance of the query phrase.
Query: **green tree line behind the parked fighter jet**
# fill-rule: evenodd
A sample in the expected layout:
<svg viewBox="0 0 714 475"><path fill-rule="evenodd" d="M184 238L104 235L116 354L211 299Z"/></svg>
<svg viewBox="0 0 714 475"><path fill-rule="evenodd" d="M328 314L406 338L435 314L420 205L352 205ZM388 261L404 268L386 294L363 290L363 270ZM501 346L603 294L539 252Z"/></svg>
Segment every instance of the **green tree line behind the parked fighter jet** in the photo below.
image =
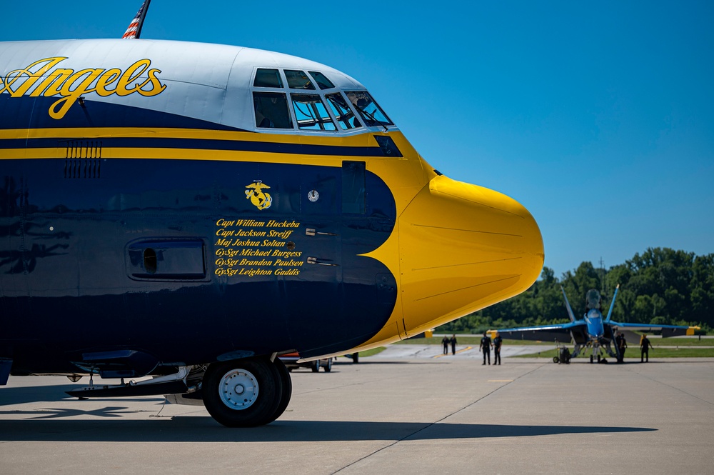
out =
<svg viewBox="0 0 714 475"><path fill-rule="evenodd" d="M570 321L560 286L575 318L585 314L585 294L598 289L607 315L615 286L620 284L612 319L647 324L697 325L714 328L714 254L649 248L624 264L595 269L583 262L558 279L543 267L540 279L518 296L438 327L448 333L480 333L486 329L545 325Z"/></svg>

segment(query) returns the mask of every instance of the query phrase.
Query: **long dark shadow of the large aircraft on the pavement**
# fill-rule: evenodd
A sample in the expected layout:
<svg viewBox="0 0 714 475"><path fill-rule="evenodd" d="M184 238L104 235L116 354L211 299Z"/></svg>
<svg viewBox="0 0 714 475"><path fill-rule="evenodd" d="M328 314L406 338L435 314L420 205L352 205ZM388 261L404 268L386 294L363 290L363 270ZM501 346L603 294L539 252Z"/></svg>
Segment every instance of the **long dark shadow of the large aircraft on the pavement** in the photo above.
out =
<svg viewBox="0 0 714 475"><path fill-rule="evenodd" d="M512 426L498 424L431 424L370 421L278 421L251 429L227 429L209 416L176 416L165 420L121 420L126 408L105 408L102 420L0 420L4 441L91 442L267 442L267 441L418 441L493 439L560 434L617 434L656 431L645 427ZM6 411L3 414L17 414ZM36 413L35 413L36 414ZM94 414L92 412L85 414ZM61 414L61 417L80 414ZM94 414L100 415L100 414ZM108 417L108 419L107 419Z"/></svg>

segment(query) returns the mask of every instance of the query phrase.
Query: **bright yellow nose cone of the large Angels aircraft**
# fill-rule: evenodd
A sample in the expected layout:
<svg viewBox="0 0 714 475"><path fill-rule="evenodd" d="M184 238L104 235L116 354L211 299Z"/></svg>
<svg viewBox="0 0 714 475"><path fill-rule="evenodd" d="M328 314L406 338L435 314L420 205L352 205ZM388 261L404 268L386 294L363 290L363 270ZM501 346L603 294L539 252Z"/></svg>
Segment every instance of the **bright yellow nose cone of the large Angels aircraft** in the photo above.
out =
<svg viewBox="0 0 714 475"><path fill-rule="evenodd" d="M481 186L436 176L398 226L409 334L520 294L543 268L543 238L533 216Z"/></svg>

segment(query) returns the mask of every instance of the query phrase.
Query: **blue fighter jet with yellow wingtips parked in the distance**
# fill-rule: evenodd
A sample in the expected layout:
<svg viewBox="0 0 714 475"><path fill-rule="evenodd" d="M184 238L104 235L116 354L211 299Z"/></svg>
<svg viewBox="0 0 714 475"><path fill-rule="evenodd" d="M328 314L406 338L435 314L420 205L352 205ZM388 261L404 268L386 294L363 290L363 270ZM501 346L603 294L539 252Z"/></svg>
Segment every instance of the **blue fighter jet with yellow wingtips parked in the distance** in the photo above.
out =
<svg viewBox="0 0 714 475"><path fill-rule="evenodd" d="M583 349L590 348L590 363L597 359L598 363L607 362L601 359L601 354L606 352L613 358L620 359L620 349L617 345L612 345L615 340L615 332L618 330L642 330L642 331L661 331L662 336L677 336L677 335L693 335L697 327L681 326L681 325L650 325L638 323L620 323L610 319L615 306L615 299L618 296L620 284L615 287L613 300L610 302L610 310L608 316L603 320L602 297L600 292L595 289L588 290L585 294L585 304L587 311L583 315L583 319L575 319L573 309L568 302L568 296L565 295L565 289L560 286L560 291L563 292L565 299L565 308L568 310L570 322L566 324L552 324L541 326L522 326L519 328L498 330L503 338L523 339L523 340L545 340L555 339L555 341L563 341L563 337L569 337L573 341L575 348L573 349L572 357L575 358ZM614 346L614 350L613 350Z"/></svg>

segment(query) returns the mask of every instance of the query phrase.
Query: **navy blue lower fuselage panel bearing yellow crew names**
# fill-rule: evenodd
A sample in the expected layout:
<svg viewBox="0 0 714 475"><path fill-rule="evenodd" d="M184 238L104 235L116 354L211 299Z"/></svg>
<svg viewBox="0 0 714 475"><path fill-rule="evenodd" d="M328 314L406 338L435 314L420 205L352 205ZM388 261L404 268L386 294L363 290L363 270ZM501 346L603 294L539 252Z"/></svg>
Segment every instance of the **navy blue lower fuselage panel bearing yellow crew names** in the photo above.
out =
<svg viewBox="0 0 714 475"><path fill-rule="evenodd" d="M13 374L127 350L167 366L329 354L393 311L394 276L360 254L386 241L396 206L358 157L2 164L0 356Z"/></svg>

